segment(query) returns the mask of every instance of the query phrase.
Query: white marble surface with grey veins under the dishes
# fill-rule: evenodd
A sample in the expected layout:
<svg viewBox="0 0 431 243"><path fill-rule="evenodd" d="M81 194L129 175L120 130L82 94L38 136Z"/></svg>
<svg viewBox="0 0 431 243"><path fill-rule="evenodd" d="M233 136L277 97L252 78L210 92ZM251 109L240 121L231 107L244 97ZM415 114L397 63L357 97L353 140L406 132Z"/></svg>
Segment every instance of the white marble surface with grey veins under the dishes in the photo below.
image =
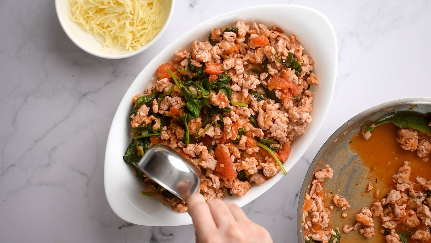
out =
<svg viewBox="0 0 431 243"><path fill-rule="evenodd" d="M244 207L274 242L296 242L303 176L331 133L376 104L431 96L431 2L264 3L318 9L338 39L337 85L319 135L286 177ZM135 57L104 60L67 38L53 1L2 1L0 242L194 242L192 226L142 227L112 212L103 189L107 133L130 83L175 36L204 19L259 4L177 0L159 43Z"/></svg>

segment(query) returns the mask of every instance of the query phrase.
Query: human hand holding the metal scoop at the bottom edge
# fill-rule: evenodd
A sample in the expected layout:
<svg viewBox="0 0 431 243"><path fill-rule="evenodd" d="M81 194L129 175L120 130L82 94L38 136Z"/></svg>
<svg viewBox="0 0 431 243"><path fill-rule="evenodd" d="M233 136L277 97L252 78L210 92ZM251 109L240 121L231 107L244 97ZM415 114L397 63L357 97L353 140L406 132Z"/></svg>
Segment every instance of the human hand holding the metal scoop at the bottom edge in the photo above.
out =
<svg viewBox="0 0 431 243"><path fill-rule="evenodd" d="M205 201L200 193L194 193L187 204L197 243L272 243L269 232L250 221L232 202Z"/></svg>

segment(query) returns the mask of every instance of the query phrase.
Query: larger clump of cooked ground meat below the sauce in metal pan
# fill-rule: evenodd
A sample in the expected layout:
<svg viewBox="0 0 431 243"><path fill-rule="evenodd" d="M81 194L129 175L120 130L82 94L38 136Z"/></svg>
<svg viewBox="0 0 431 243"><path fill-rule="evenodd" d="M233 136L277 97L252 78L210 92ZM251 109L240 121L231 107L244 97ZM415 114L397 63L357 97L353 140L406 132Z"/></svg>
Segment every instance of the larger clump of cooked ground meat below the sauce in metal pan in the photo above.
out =
<svg viewBox="0 0 431 243"><path fill-rule="evenodd" d="M359 234L365 238L374 235L374 222L372 217L380 218L380 222L389 232L385 236L388 243L400 241L400 235L395 232L397 225L404 224L404 227L411 228L413 240L430 240L429 228L431 226L431 211L426 199L427 194L422 191L431 189L431 181L425 178L416 177L418 183L410 181L411 167L408 161L394 174L393 181L395 188L401 184L408 184L408 192L399 189L392 189L386 197L373 203L371 209L362 208L356 215L357 224L355 227L346 225L344 232L359 229ZM415 189L413 189L415 188ZM419 191L416 191L419 190Z"/></svg>

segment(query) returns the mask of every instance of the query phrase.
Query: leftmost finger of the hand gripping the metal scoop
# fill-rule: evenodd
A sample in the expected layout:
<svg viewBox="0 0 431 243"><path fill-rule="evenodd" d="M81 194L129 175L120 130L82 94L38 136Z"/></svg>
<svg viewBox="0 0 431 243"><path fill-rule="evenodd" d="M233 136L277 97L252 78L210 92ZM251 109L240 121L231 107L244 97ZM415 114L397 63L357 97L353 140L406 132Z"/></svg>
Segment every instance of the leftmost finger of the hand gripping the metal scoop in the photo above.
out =
<svg viewBox="0 0 431 243"><path fill-rule="evenodd" d="M193 219L193 224L200 237L204 237L216 228L208 204L200 193L194 193L187 199L187 212Z"/></svg>

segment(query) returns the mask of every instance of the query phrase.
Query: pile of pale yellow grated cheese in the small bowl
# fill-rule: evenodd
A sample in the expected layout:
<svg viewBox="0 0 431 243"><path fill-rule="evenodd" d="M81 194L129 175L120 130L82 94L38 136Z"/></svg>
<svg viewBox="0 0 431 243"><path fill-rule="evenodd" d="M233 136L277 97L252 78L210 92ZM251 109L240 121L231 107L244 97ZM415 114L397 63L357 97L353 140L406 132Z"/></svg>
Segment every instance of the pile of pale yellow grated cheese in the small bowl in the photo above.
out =
<svg viewBox="0 0 431 243"><path fill-rule="evenodd" d="M162 29L162 0L69 0L74 22L102 44L132 51L150 42Z"/></svg>

